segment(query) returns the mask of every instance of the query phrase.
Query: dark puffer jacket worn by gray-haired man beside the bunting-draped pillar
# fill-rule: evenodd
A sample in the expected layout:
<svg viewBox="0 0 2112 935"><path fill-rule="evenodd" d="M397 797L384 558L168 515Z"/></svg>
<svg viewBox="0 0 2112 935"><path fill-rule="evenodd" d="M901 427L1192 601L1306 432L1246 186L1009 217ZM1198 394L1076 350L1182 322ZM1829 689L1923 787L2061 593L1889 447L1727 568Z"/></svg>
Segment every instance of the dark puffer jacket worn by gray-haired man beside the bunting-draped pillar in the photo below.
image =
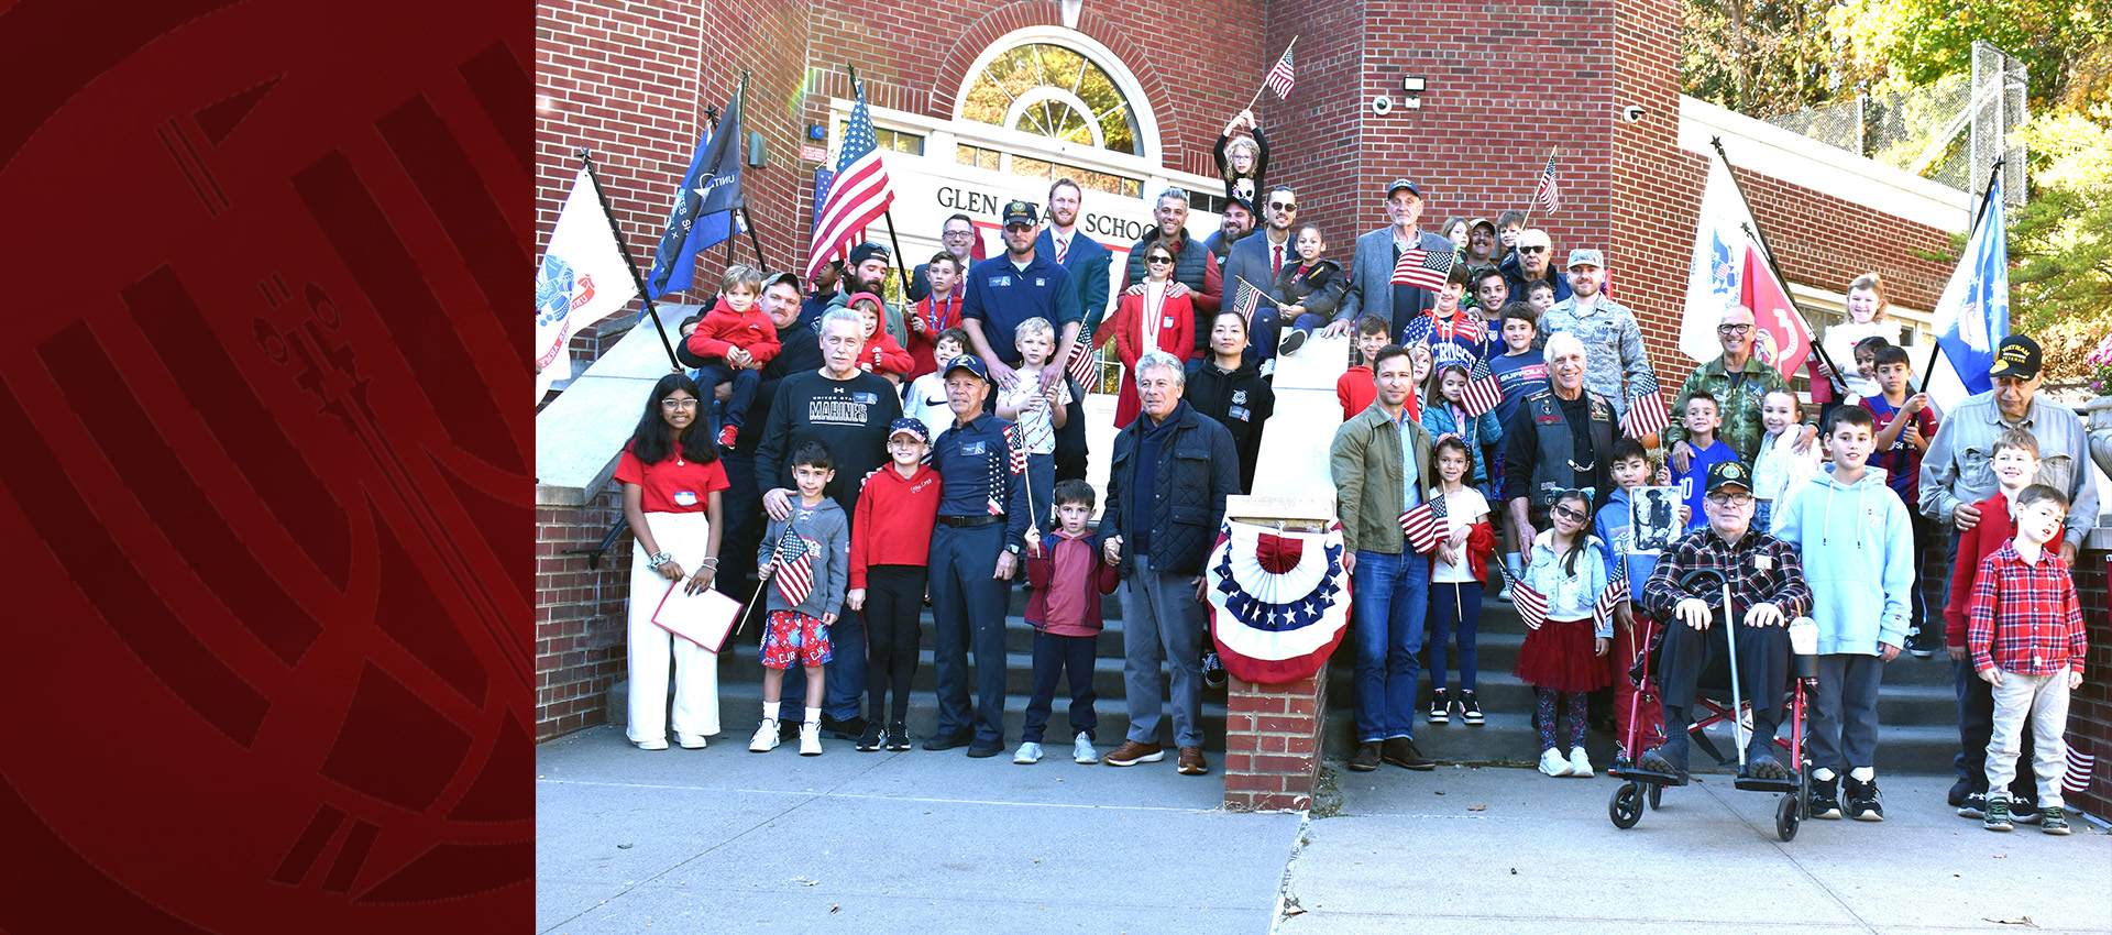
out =
<svg viewBox="0 0 2112 935"><path fill-rule="evenodd" d="M1176 407L1172 439L1159 447L1157 471L1149 479L1136 473L1136 439L1151 416L1138 416L1115 435L1115 460L1107 475L1107 511L1100 513L1100 538L1117 536L1130 523L1130 511L1151 511L1151 570L1159 574L1202 574L1217 528L1225 521L1225 498L1238 494L1240 466L1231 450L1231 433L1204 418L1193 405ZM1096 542L1096 545L1098 545ZM1134 568L1124 553L1121 574Z"/></svg>

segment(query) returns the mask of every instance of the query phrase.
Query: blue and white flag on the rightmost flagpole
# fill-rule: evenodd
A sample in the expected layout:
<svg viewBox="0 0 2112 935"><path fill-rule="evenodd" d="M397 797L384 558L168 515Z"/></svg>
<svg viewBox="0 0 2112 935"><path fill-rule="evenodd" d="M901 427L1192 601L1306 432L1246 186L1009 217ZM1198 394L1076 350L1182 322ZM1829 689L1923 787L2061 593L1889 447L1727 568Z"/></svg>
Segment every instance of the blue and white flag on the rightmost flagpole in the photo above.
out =
<svg viewBox="0 0 2112 935"><path fill-rule="evenodd" d="M1958 257L1943 298L1937 300L1932 325L1937 352L1928 361L1928 399L1949 412L1958 401L1987 393L1994 380L1994 346L2009 336L2009 226L2002 217L2002 177L1987 188L1987 209L1981 211L1966 249Z"/></svg>

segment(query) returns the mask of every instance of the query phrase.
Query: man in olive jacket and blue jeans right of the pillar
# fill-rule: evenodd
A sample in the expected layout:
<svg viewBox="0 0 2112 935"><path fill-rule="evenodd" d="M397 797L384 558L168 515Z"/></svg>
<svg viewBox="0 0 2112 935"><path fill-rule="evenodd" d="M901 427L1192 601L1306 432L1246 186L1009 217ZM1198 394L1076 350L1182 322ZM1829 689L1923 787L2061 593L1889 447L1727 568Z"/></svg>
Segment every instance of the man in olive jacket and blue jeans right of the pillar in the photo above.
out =
<svg viewBox="0 0 2112 935"><path fill-rule="evenodd" d="M1373 359L1379 395L1335 431L1328 473L1350 572L1350 631L1356 640L1356 753L1350 768L1379 762L1428 770L1415 747L1415 650L1430 608L1430 557L1409 549L1400 513L1436 498L1430 433L1407 412L1415 393L1409 352L1388 344Z"/></svg>

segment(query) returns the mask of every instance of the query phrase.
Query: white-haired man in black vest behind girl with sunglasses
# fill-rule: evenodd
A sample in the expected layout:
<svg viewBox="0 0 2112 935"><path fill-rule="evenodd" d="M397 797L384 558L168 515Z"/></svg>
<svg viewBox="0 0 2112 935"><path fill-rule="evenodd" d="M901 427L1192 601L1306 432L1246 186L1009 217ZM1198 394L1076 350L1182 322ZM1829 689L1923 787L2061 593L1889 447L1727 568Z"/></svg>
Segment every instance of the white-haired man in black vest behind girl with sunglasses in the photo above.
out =
<svg viewBox="0 0 2112 935"><path fill-rule="evenodd" d="M1548 507L1565 490L1590 490L1592 513L1614 494L1614 401L1584 388L1584 342L1548 336L1548 388L1519 403L1504 426L1504 490L1519 542L1546 528Z"/></svg>

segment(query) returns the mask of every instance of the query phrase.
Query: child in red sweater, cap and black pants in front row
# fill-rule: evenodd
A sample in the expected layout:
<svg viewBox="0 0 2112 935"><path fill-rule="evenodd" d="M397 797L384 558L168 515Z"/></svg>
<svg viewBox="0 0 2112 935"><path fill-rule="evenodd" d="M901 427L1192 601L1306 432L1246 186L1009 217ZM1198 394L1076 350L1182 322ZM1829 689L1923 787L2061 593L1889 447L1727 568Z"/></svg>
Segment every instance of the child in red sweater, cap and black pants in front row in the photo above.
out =
<svg viewBox="0 0 2112 935"><path fill-rule="evenodd" d="M891 464L866 475L851 517L851 589L845 604L866 621L866 697L872 701L857 749L910 749L910 680L923 616L925 566L938 526L938 471L923 462L931 431L914 418L887 426ZM893 688L893 707L887 690ZM887 711L887 730L881 730Z"/></svg>

